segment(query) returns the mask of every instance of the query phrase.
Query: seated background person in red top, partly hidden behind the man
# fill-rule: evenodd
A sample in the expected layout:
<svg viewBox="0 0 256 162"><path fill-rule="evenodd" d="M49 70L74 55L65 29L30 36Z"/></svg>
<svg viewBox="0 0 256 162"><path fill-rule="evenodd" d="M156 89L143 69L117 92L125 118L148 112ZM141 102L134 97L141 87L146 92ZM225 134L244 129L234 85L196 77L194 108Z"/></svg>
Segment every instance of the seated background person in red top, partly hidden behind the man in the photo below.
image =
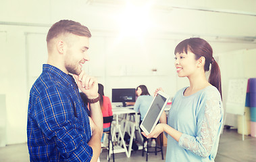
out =
<svg viewBox="0 0 256 162"><path fill-rule="evenodd" d="M111 102L109 97L105 97L104 96L104 86L102 84L98 84L99 89L98 89L98 93L101 95L101 99L99 100L99 104L101 105L101 112L103 117L107 117L107 116L111 116L113 115L112 112L112 106L111 106ZM103 132L107 132L109 131L110 128L110 124L103 124ZM102 135L101 138L101 145L103 144L103 138L104 138L104 134Z"/></svg>

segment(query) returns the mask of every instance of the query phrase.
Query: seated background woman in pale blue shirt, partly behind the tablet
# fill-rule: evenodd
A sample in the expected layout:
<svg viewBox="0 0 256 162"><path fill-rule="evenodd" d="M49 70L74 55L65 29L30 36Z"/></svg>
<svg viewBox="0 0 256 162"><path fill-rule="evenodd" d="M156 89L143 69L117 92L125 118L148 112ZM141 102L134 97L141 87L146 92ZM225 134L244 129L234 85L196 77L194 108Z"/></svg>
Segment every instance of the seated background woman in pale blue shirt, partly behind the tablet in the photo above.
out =
<svg viewBox="0 0 256 162"><path fill-rule="evenodd" d="M145 85L140 85L136 88L136 96L138 97L136 99L136 102L134 104L134 110L136 112L140 113L140 124L143 121L147 110L149 109L152 101L153 101L153 96L149 94L149 91L147 90L147 86ZM143 130L140 129L141 132ZM144 146L147 146L147 138L143 136L144 141ZM152 139L151 146L155 146L155 138Z"/></svg>

